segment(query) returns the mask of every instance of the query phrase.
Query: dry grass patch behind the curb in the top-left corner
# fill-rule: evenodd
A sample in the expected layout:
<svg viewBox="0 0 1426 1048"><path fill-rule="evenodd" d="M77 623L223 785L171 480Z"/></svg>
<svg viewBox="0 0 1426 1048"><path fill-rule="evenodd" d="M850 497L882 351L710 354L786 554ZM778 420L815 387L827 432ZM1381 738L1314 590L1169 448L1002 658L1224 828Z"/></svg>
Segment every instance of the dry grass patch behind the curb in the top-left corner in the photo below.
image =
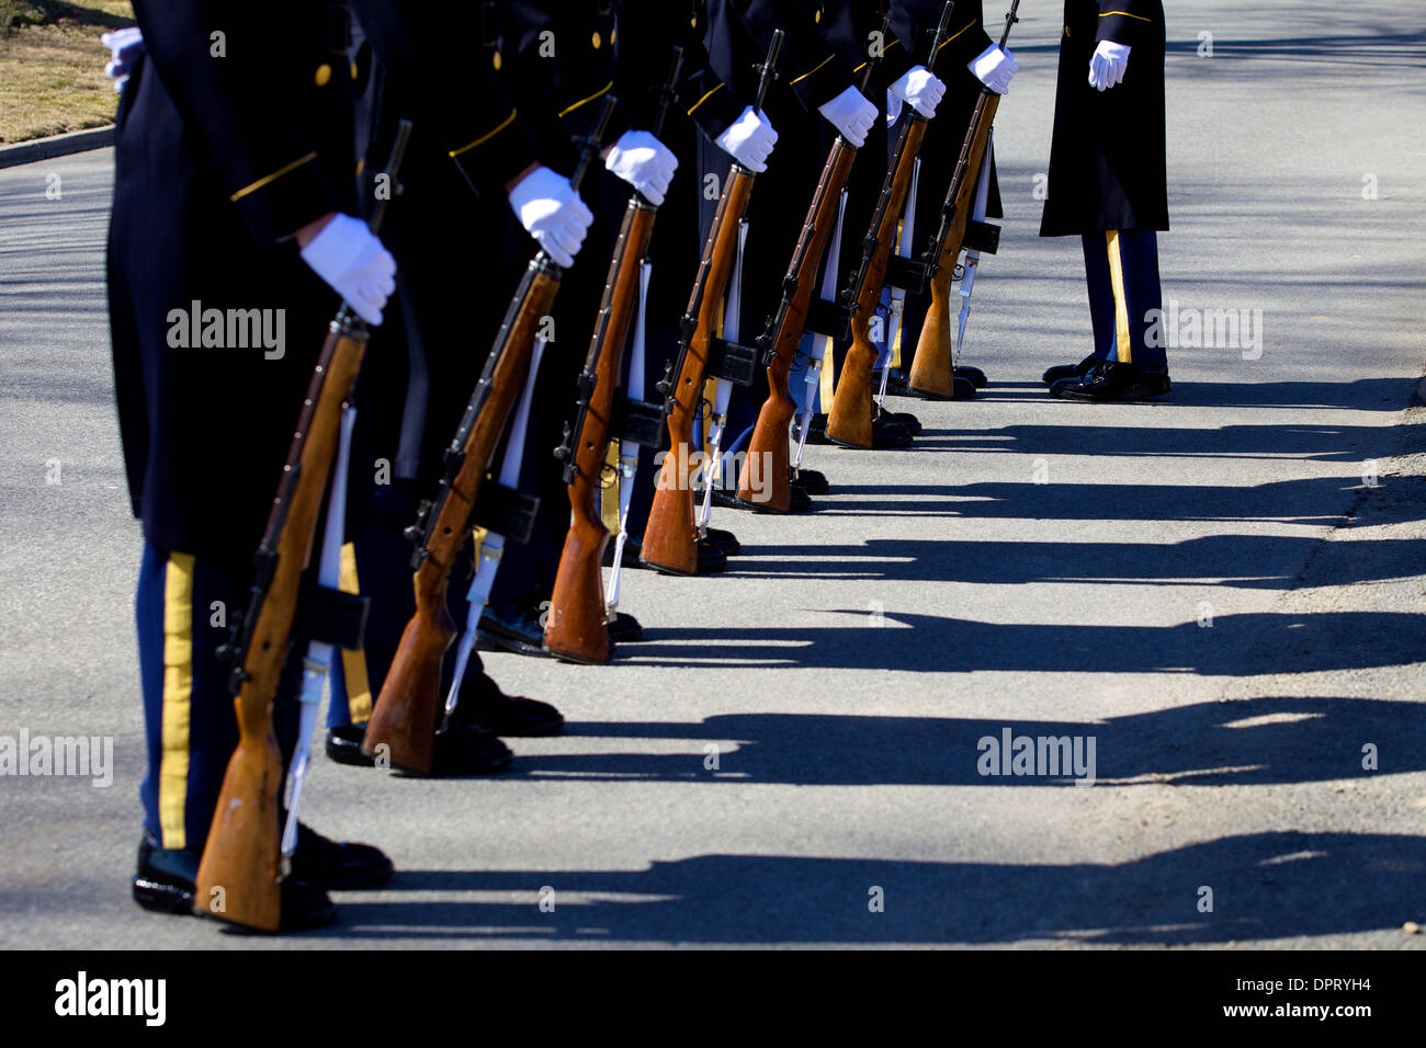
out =
<svg viewBox="0 0 1426 1048"><path fill-rule="evenodd" d="M128 0L0 0L0 143L114 121L101 34L134 24Z"/></svg>

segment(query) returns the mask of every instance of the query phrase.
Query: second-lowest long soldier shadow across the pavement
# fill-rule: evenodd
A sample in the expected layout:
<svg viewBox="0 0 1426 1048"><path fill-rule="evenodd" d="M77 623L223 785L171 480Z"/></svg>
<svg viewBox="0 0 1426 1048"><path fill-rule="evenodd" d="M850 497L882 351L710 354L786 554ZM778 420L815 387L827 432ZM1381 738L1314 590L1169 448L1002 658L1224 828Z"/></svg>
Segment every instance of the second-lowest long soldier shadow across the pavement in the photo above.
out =
<svg viewBox="0 0 1426 1048"><path fill-rule="evenodd" d="M1012 713L1012 710L1007 710ZM1386 727L1389 726L1389 729ZM627 739L629 753L520 754L530 779L791 786L1072 787L1075 773L1045 744L1045 774L981 774L994 739L1094 737L1099 784L1263 786L1366 779L1426 769L1426 706L1372 699L1253 699L1195 703L1101 721L739 713L694 723L575 723L579 739ZM647 753L643 740L686 741ZM706 767L707 743L719 767ZM732 744L730 744L732 743ZM1365 770L1363 746L1378 770ZM1054 757L1054 763L1048 759ZM1065 754L1068 760L1068 754ZM1005 757L1010 760L1010 756ZM1024 769L1028 771L1028 766ZM1079 777L1084 777L1081 766ZM1082 787L1077 787L1082 788Z"/></svg>

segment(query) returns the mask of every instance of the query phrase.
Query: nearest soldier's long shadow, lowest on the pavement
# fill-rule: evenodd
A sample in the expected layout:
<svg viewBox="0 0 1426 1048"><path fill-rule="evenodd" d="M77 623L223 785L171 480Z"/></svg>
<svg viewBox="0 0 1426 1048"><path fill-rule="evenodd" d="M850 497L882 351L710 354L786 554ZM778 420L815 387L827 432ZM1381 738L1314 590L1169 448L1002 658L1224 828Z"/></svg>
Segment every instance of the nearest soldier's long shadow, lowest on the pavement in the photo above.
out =
<svg viewBox="0 0 1426 1048"><path fill-rule="evenodd" d="M342 924L312 938L1242 942L1399 928L1417 915L1409 900L1419 897L1423 875L1420 837L1296 831L1225 837L1118 864L710 854L643 871L406 870L385 893L389 901L342 903ZM555 891L553 913L538 905L546 887ZM1198 908L1205 887L1212 913ZM868 907L876 888L883 913ZM506 898L399 901L408 891Z"/></svg>

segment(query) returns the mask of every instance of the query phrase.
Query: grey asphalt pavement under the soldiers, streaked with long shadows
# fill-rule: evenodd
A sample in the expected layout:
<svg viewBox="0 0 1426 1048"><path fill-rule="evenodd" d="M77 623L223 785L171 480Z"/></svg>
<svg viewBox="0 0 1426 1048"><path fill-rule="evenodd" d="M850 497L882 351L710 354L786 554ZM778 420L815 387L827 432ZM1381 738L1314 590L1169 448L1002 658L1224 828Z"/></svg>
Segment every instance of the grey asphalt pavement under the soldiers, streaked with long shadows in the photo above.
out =
<svg viewBox="0 0 1426 1048"><path fill-rule="evenodd" d="M279 940L128 898L113 154L0 171L0 736L114 740L107 788L0 779L0 945L1420 948L1426 27L1168 9L1165 299L1248 311L1238 344L1172 348L1161 404L1045 395L1088 308L1079 245L1037 237L1061 21L1025 4L967 337L992 385L896 402L913 449L811 448L833 493L722 513L726 575L629 573L613 664L492 656L569 720L506 774L317 763L308 820L399 873ZM985 774L1005 733L1092 743L1094 784Z"/></svg>

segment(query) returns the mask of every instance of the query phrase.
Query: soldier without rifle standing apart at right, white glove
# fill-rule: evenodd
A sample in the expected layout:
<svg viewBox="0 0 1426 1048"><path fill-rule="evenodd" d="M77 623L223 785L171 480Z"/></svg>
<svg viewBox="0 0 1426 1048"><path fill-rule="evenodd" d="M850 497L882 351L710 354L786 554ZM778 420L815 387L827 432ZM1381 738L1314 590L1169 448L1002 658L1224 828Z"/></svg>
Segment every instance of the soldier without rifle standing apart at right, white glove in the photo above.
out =
<svg viewBox="0 0 1426 1048"><path fill-rule="evenodd" d="M1094 352L1045 372L1052 396L1124 401L1171 388L1162 345L1145 338L1161 305L1165 153L1162 1L1065 0L1040 235L1084 244Z"/></svg>

